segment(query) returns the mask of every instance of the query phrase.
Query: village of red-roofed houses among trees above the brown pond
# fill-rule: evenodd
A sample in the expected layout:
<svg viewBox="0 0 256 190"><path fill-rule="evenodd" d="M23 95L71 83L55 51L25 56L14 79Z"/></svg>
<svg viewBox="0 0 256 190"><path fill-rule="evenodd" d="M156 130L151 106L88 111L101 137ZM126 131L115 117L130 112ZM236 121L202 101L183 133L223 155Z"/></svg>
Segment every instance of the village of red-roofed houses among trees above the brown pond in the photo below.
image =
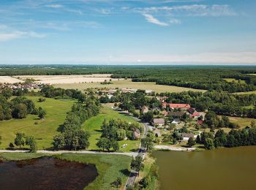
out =
<svg viewBox="0 0 256 190"><path fill-rule="evenodd" d="M103 104L107 104L116 110L122 110L128 115L147 122L149 129L155 136L154 148L193 151L195 148L187 146L189 138L196 140L197 135L205 131L205 129L200 129L205 128L203 122L206 113L197 112L190 104L167 103L167 96L161 96L161 94L156 94L154 91L122 88L98 89L96 93L99 94L99 99L102 100ZM131 94L135 95L135 93L143 94L148 101L155 99L157 106L141 104L140 107L135 107L134 110L124 105L124 102L118 102L118 96L132 96ZM140 131L136 130L134 133L136 137L140 137Z"/></svg>

